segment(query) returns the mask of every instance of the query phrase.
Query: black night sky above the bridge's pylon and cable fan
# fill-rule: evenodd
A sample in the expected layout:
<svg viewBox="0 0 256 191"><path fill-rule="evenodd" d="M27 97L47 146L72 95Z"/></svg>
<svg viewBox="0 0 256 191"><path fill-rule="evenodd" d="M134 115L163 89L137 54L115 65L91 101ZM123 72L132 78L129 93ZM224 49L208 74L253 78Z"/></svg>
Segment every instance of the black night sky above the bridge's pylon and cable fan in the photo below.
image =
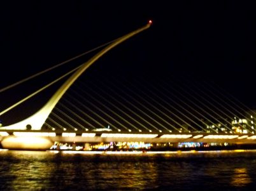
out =
<svg viewBox="0 0 256 191"><path fill-rule="evenodd" d="M193 79L217 84L250 109L256 107L253 1L8 1L1 2L0 10L0 88L152 20L150 29L104 55L85 72L85 78L104 81L122 76L136 81L145 77L181 83ZM45 79L0 93L0 109L63 72L57 69Z"/></svg>

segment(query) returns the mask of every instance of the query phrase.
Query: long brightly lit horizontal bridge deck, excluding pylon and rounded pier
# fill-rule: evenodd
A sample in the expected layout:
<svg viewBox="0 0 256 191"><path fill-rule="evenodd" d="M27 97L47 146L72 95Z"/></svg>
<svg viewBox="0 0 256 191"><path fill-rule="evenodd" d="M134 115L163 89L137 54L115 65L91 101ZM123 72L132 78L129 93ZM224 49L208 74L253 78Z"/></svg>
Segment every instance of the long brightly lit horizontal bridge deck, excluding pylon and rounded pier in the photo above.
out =
<svg viewBox="0 0 256 191"><path fill-rule="evenodd" d="M52 142L227 142L256 143L256 135L210 133L120 133L95 131L0 131L6 136L45 137Z"/></svg>

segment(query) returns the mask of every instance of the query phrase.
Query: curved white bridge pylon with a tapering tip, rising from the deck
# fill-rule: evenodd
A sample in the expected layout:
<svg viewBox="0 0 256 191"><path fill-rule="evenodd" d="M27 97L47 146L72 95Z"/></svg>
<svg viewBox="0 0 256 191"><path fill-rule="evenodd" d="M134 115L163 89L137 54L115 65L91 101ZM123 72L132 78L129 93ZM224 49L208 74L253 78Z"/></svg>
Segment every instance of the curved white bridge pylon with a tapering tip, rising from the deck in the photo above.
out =
<svg viewBox="0 0 256 191"><path fill-rule="evenodd" d="M145 29L148 29L150 27L150 23L145 25L144 27L141 27L137 30L134 30L130 32L129 34L126 34L125 36L120 37L117 39L117 41L114 41L110 45L108 45L106 48L104 48L102 51L94 55L92 58L90 58L89 61L83 63L82 67L80 67L76 72L69 77L69 79L64 82L64 84L56 91L56 93L50 98L50 100L38 111L36 114L31 115L31 117L28 117L27 119L24 119L23 121L17 122L15 124L11 124L10 126L4 126L0 129L10 129L10 130L17 130L17 129L27 129L31 128L31 130L40 130L43 126L45 120L47 119L50 112L52 112L53 108L59 102L60 98L64 93L68 90L68 88L73 84L73 82L76 81L76 79L82 75L82 73L92 65L92 63L96 62L98 58L103 56L105 53L107 53L111 48L114 48L118 44L122 43L123 41L129 39L130 37L134 36L135 34L138 34L139 32L142 32Z"/></svg>

